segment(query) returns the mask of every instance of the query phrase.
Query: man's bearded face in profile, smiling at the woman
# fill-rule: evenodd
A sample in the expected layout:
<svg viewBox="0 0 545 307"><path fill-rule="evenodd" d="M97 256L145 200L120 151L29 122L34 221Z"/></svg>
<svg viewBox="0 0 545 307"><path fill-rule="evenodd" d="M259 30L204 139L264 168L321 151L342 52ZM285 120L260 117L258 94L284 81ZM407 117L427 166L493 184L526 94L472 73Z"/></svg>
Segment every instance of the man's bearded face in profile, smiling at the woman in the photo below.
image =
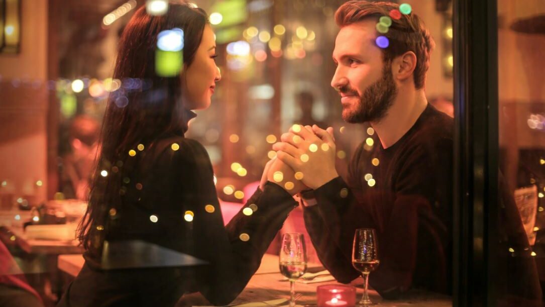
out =
<svg viewBox="0 0 545 307"><path fill-rule="evenodd" d="M376 23L367 20L342 27L335 40L337 69L331 86L342 97L342 118L348 123L380 121L397 94L391 64L383 64L374 43Z"/></svg>

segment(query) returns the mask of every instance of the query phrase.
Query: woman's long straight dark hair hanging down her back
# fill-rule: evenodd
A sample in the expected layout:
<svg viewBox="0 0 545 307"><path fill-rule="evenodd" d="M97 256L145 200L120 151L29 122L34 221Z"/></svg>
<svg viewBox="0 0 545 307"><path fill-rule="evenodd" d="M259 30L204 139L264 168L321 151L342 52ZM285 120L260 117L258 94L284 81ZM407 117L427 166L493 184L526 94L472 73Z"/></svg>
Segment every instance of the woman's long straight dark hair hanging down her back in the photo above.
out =
<svg viewBox="0 0 545 307"><path fill-rule="evenodd" d="M183 131L187 120L180 99L180 76L161 77L155 73L158 34L183 29L183 59L189 66L208 23L204 10L171 3L162 16L148 15L141 7L126 25L113 74L122 86L108 98L89 205L78 227L80 243L92 254L101 251L108 226L120 209L122 173L127 171L124 161L132 154L130 151L150 146L160 135Z"/></svg>

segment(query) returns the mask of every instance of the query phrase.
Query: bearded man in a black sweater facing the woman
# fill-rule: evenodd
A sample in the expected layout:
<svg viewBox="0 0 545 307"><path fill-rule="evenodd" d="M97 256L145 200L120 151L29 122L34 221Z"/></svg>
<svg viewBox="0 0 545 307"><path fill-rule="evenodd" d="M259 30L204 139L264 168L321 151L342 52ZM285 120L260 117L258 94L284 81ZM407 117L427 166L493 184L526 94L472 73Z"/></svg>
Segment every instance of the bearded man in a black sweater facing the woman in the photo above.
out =
<svg viewBox="0 0 545 307"><path fill-rule="evenodd" d="M377 32L379 18L391 10L398 5L350 1L335 15L341 29L331 86L341 95L344 121L370 122L373 128L354 153L347 180L335 170L331 128L294 126L273 148L312 189L302 192L305 224L338 281L360 274L351 263L356 228L375 228L380 265L370 275L374 289L384 297L409 287L448 293L453 121L426 101L434 43L420 18L402 15L392 19L389 32ZM379 35L389 46L377 45ZM269 173L281 169L272 165Z"/></svg>

